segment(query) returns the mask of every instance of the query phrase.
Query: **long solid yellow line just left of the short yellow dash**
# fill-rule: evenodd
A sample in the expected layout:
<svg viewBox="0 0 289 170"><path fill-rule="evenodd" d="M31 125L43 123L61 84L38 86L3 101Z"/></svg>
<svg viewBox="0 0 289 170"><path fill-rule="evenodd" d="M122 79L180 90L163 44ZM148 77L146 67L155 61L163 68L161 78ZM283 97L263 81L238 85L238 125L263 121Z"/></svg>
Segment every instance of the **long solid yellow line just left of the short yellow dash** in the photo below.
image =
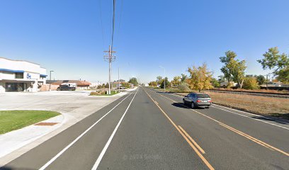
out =
<svg viewBox="0 0 289 170"><path fill-rule="evenodd" d="M145 91L145 89L143 89ZM145 91L145 93L147 94L147 91ZM147 94L147 96L149 96L149 94ZM151 96L149 96L149 98L152 99ZM166 116L167 119L169 119L169 122L171 122L172 125L174 125L174 127L176 128L176 130L179 131L179 133L183 136L183 138L185 138L186 142L188 142L188 145L190 145L193 150L198 154L198 156L200 157L200 159L202 159L202 161L205 163L206 166L208 166L208 168L210 170L214 170L214 168L212 167L212 165L208 162L207 159L205 159L205 157L203 157L203 154L201 154L198 149L192 144L192 142L188 139L188 137L186 137L185 134L183 134L183 132L180 130L180 128L178 128L178 126L174 123L173 120L171 120L171 118L169 118L169 115L167 115L164 110L162 110L162 108L156 103L156 101L154 101L154 99L152 99L152 101L156 104L156 106L159 108L160 111L162 111L162 113L164 113L164 115Z"/></svg>

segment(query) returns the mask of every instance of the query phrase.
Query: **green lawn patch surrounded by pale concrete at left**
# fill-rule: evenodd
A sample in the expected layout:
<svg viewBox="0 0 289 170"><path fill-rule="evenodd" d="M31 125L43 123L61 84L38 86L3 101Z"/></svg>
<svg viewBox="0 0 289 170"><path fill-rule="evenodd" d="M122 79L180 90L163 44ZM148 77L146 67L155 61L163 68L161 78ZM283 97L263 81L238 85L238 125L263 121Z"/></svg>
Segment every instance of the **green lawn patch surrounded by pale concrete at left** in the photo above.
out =
<svg viewBox="0 0 289 170"><path fill-rule="evenodd" d="M0 111L0 134L18 130L57 115L60 113L55 111Z"/></svg>

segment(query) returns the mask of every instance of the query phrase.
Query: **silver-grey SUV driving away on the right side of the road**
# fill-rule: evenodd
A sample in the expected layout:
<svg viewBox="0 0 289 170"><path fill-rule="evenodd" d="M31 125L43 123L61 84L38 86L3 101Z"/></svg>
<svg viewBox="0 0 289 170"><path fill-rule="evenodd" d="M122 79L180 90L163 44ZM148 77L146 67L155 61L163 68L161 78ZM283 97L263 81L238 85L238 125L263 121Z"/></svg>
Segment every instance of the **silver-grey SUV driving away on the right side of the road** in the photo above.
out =
<svg viewBox="0 0 289 170"><path fill-rule="evenodd" d="M183 104L190 105L191 108L209 108L212 104L212 99L208 94L191 93L183 98Z"/></svg>

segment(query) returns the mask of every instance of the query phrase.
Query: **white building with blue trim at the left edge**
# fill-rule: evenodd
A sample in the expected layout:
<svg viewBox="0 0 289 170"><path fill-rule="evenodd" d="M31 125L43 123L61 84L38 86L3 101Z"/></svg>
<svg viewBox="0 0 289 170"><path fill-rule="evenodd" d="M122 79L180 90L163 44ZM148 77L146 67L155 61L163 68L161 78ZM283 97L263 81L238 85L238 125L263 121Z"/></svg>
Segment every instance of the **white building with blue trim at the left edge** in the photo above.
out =
<svg viewBox="0 0 289 170"><path fill-rule="evenodd" d="M42 84L46 84L46 77L46 69L39 64L0 57L0 93L37 92Z"/></svg>

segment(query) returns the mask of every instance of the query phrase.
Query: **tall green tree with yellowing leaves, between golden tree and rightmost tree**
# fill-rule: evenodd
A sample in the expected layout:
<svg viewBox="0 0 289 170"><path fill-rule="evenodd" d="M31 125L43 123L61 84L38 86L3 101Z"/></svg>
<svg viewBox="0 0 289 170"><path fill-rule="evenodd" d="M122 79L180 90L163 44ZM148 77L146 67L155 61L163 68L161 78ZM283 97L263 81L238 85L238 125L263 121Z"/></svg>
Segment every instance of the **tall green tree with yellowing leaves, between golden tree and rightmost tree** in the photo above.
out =
<svg viewBox="0 0 289 170"><path fill-rule="evenodd" d="M225 65L221 68L221 72L224 74L225 79L230 81L236 81L239 87L242 88L244 82L244 74L246 69L245 60L235 60L237 54L232 51L225 52L225 57L220 57L220 61Z"/></svg>

